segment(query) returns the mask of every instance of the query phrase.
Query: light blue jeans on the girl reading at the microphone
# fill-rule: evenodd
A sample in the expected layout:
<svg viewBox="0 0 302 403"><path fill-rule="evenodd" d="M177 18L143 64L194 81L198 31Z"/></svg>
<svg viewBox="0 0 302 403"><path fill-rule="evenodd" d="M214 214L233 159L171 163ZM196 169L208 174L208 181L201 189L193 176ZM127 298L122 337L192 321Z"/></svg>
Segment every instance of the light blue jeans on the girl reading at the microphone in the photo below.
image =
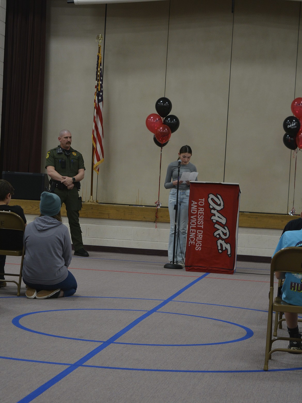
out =
<svg viewBox="0 0 302 403"><path fill-rule="evenodd" d="M170 235L168 245L168 260L173 260L175 209L177 189L171 189L169 195ZM176 222L175 256L174 262L184 262L186 253L186 239L188 229L188 207L190 189L178 191L178 212Z"/></svg>

